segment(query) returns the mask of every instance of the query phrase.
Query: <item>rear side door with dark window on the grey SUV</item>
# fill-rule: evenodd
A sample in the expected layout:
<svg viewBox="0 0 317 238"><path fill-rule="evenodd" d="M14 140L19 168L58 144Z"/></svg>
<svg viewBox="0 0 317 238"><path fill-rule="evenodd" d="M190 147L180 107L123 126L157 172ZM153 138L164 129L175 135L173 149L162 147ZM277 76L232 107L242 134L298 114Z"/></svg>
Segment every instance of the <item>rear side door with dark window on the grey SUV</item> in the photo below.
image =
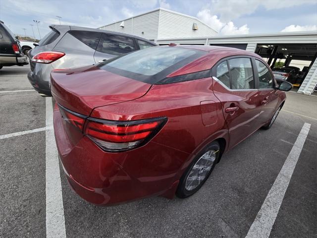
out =
<svg viewBox="0 0 317 238"><path fill-rule="evenodd" d="M132 37L103 33L95 53L95 62L109 60L138 50Z"/></svg>

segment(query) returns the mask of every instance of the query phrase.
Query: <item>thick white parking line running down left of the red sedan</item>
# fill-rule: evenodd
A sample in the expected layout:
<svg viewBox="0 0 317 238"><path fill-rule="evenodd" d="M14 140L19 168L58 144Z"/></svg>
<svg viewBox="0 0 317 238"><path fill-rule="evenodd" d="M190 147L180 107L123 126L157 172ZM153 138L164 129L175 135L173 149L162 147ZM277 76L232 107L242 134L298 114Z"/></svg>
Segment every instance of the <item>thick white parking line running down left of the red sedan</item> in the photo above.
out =
<svg viewBox="0 0 317 238"><path fill-rule="evenodd" d="M46 127L52 126L52 98L46 98ZM46 237L66 238L58 154L53 129L46 131Z"/></svg>

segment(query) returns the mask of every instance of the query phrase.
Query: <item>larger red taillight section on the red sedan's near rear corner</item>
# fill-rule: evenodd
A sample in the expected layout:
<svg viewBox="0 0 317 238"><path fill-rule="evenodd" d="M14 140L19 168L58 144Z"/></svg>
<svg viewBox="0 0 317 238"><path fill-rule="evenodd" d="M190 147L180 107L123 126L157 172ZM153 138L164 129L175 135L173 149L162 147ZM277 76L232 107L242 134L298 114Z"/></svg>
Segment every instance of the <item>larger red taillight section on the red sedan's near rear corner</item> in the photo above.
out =
<svg viewBox="0 0 317 238"><path fill-rule="evenodd" d="M151 140L167 118L135 121L113 121L88 118L84 133L105 151L120 152L134 149Z"/></svg>

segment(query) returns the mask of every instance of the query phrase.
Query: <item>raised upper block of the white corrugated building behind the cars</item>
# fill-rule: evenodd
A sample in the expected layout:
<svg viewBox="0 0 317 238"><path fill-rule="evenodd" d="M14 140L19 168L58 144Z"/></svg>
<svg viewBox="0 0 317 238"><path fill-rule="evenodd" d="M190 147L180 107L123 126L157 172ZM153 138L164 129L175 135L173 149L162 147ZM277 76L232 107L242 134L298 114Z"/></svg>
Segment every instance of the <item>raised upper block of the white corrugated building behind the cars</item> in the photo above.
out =
<svg viewBox="0 0 317 238"><path fill-rule="evenodd" d="M196 17L164 8L157 8L99 29L132 34L151 41L175 37L206 37L217 34L215 30Z"/></svg>

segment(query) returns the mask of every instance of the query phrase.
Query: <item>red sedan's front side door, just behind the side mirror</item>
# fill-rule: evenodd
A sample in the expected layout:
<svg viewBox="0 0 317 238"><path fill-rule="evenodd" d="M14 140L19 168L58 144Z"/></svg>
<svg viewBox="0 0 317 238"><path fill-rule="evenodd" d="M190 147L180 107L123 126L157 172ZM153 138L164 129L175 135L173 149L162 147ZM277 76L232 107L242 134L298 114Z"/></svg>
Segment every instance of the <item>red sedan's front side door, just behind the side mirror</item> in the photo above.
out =
<svg viewBox="0 0 317 238"><path fill-rule="evenodd" d="M260 120L262 124L268 122L273 116L278 104L277 90L274 89L275 82L269 68L262 60L254 59L256 80L259 88L262 109Z"/></svg>

